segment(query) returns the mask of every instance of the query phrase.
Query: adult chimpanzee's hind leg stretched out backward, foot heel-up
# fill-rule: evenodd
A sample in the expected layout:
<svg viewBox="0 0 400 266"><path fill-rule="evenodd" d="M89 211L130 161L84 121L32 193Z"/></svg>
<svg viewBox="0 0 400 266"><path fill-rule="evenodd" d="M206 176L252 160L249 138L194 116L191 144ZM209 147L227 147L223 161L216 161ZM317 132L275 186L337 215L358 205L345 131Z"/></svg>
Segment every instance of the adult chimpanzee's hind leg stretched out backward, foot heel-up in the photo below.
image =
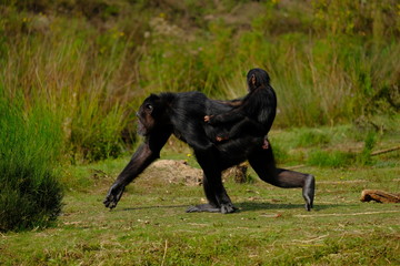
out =
<svg viewBox="0 0 400 266"><path fill-rule="evenodd" d="M310 211L313 207L316 190L314 176L290 170L277 168L271 145L267 150L262 147L256 150L249 156L249 163L260 178L271 185L283 188L302 187L306 209Z"/></svg>

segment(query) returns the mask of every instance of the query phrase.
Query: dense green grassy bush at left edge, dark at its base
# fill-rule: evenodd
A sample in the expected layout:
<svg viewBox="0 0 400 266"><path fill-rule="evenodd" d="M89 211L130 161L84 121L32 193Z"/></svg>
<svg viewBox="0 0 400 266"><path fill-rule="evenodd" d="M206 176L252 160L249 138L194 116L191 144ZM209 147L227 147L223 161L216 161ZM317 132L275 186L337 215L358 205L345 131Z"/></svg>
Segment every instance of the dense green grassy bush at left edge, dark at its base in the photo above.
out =
<svg viewBox="0 0 400 266"><path fill-rule="evenodd" d="M60 124L44 110L23 112L0 88L0 231L48 226L61 211L54 163Z"/></svg>

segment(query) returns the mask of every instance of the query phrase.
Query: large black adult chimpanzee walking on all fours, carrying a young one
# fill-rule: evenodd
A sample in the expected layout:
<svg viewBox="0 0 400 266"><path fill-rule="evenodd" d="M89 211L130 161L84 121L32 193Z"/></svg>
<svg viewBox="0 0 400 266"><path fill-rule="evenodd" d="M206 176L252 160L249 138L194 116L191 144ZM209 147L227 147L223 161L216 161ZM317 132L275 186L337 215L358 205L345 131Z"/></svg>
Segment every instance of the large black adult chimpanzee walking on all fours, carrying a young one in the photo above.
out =
<svg viewBox="0 0 400 266"><path fill-rule="evenodd" d="M206 132L211 125L203 122L207 114L228 112L232 106L212 101L200 92L151 94L139 109L139 133L144 136L128 165L111 185L104 200L113 208L124 187L160 155L171 134L193 149L203 170L203 188L208 204L189 207L187 212L233 213L237 208L221 181L221 171L246 160L261 180L279 187L302 187L306 208L310 211L314 196L314 177L289 170L277 168L272 147L262 149L251 139L238 137L212 143ZM253 139L253 137L252 137Z"/></svg>

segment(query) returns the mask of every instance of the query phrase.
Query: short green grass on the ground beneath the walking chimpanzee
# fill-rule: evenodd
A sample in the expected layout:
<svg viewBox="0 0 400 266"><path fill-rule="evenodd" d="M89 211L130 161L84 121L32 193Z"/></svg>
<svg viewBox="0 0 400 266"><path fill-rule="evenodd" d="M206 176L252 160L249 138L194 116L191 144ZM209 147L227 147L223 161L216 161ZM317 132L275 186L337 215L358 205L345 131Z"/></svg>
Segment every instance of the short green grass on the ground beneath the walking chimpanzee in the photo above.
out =
<svg viewBox="0 0 400 266"><path fill-rule="evenodd" d="M278 145L283 137L286 145L298 145L303 142L288 140L307 132L313 131L272 132L271 140ZM397 141L380 136L376 149ZM361 144L346 139L341 145ZM162 157L184 158L190 152L177 146L168 146ZM313 147L291 149L291 156ZM330 149L339 147L332 137ZM361 203L359 198L364 188L400 191L399 157L398 151L373 157L370 165L306 164L299 171L317 176L312 212L304 211L300 190L273 187L250 171L252 182L226 181L240 208L230 215L184 213L190 204L204 201L202 188L170 184L162 171L144 172L110 212L102 200L128 157L71 166L64 176L73 175L80 184L70 184L58 224L2 234L0 264L398 265L400 205Z"/></svg>

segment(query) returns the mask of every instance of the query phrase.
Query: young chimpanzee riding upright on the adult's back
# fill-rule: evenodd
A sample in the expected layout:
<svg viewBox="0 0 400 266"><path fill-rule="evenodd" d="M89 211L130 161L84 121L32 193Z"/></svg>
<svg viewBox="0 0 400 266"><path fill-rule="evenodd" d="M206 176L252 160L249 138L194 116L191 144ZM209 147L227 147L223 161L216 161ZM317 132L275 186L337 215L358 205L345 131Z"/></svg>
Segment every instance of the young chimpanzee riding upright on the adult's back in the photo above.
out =
<svg viewBox="0 0 400 266"><path fill-rule="evenodd" d="M241 136L254 136L254 141L264 142L263 147L268 149L264 136L270 131L277 113L277 96L270 85L270 78L262 69L252 69L247 74L249 94L236 106L222 114L206 115L204 122L214 125L221 131L217 141L231 140ZM229 132L223 132L218 125L234 123Z"/></svg>

